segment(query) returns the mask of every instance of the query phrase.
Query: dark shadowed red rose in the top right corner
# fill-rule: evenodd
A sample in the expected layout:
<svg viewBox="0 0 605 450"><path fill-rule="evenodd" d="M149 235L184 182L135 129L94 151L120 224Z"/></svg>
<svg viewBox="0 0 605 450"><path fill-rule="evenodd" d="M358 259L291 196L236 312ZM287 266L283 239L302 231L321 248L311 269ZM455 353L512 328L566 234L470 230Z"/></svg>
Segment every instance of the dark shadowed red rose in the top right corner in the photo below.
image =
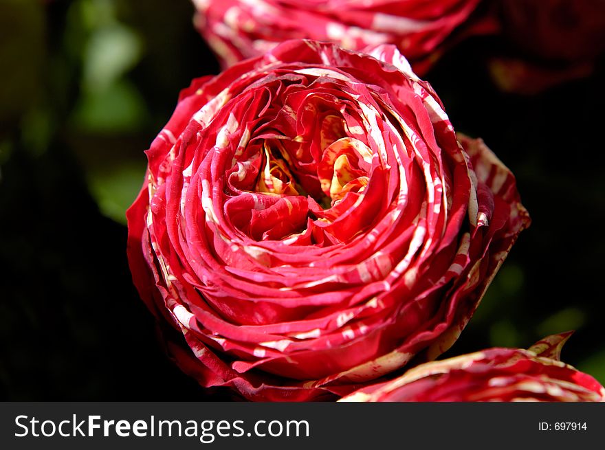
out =
<svg viewBox="0 0 605 450"><path fill-rule="evenodd" d="M490 58L503 91L531 94L590 75L605 53L603 0L497 0L511 54Z"/></svg>

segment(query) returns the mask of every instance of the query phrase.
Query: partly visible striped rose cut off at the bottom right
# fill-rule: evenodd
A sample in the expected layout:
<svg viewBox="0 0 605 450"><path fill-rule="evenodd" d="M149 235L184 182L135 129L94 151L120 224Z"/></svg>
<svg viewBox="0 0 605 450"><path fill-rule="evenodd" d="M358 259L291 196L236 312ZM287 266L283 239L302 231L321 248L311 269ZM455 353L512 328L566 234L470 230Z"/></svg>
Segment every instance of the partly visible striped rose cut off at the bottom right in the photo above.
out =
<svg viewBox="0 0 605 450"><path fill-rule="evenodd" d="M341 401L605 401L598 381L560 361L570 335L424 363Z"/></svg>

